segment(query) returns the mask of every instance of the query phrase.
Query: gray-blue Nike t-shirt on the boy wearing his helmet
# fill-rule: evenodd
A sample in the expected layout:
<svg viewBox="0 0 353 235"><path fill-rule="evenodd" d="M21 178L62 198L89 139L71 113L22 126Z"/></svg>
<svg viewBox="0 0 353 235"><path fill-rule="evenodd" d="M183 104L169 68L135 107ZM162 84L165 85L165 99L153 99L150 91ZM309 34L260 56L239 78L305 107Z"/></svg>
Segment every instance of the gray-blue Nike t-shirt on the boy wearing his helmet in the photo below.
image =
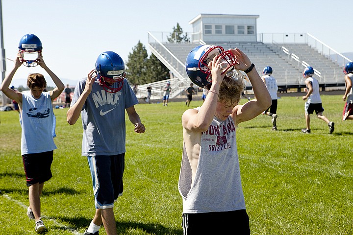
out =
<svg viewBox="0 0 353 235"><path fill-rule="evenodd" d="M77 83L71 106L82 94L86 81L87 79L84 78ZM114 83L111 87L118 87L118 83ZM126 79L124 79L123 88L116 93L106 92L96 80L81 111L82 155L125 153L125 109L135 104L138 104L138 100Z"/></svg>

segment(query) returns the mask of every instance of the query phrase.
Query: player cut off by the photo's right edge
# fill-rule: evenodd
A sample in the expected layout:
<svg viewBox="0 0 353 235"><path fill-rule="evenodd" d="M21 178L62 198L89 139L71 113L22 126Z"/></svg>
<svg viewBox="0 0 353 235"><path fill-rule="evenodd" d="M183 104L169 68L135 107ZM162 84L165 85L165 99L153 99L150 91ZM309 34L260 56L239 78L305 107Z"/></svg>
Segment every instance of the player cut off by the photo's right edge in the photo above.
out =
<svg viewBox="0 0 353 235"><path fill-rule="evenodd" d="M346 92L343 95L343 101L346 101L346 104L343 109L342 120L353 120L353 62L346 64L344 69L345 75L345 87Z"/></svg>

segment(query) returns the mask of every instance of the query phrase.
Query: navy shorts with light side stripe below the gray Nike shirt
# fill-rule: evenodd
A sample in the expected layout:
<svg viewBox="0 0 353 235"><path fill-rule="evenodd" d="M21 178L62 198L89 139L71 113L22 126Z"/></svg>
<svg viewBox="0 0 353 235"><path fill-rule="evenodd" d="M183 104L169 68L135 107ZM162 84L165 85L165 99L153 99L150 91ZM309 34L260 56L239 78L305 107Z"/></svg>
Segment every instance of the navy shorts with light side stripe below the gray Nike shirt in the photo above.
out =
<svg viewBox="0 0 353 235"><path fill-rule="evenodd" d="M112 208L123 194L125 153L87 157L91 170L96 209Z"/></svg>

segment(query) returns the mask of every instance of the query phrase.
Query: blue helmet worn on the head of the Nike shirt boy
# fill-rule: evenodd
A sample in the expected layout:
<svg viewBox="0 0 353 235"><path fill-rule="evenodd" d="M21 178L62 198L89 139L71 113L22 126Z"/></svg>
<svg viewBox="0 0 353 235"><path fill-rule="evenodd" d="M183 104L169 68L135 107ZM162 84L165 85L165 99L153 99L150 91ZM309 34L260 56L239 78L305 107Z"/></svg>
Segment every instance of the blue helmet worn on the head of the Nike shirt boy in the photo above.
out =
<svg viewBox="0 0 353 235"><path fill-rule="evenodd" d="M124 85L125 64L123 59L113 51L101 53L96 61L97 82L110 93L119 92ZM118 87L111 87L118 82Z"/></svg>

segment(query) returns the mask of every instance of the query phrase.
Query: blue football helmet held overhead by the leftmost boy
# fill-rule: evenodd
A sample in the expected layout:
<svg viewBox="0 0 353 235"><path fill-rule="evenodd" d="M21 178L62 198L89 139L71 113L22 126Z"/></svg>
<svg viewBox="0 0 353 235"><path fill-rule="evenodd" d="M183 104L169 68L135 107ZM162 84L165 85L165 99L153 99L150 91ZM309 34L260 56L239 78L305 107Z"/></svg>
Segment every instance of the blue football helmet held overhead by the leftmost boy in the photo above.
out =
<svg viewBox="0 0 353 235"><path fill-rule="evenodd" d="M21 62L27 67L37 66L37 58L42 53L42 42L34 34L26 34L19 43Z"/></svg>

